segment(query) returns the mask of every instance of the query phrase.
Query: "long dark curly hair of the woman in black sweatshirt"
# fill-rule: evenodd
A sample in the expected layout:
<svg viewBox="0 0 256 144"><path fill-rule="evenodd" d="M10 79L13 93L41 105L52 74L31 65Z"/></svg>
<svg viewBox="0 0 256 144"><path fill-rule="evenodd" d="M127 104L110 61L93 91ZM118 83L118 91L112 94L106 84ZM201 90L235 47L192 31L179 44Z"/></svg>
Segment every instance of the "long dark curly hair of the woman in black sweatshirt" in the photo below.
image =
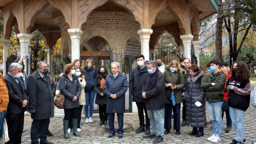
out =
<svg viewBox="0 0 256 144"><path fill-rule="evenodd" d="M250 78L250 71L249 68L247 66L247 64L243 61L243 60L237 60L232 64L232 68L234 66L234 64L237 64L237 68L236 68L236 78L239 80L246 80ZM232 71L231 68L231 71Z"/></svg>

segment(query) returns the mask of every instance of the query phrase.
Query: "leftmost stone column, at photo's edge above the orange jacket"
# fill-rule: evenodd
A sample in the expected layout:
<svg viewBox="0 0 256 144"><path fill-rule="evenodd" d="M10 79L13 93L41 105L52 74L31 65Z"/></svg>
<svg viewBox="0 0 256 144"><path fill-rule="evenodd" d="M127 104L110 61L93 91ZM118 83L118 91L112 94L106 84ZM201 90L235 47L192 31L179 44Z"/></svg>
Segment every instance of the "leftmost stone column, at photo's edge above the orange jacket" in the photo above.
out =
<svg viewBox="0 0 256 144"><path fill-rule="evenodd" d="M4 63L4 69L3 69L3 75L6 75L6 60L9 57L9 46L11 44L10 39L1 39L2 46L3 46L3 63Z"/></svg>

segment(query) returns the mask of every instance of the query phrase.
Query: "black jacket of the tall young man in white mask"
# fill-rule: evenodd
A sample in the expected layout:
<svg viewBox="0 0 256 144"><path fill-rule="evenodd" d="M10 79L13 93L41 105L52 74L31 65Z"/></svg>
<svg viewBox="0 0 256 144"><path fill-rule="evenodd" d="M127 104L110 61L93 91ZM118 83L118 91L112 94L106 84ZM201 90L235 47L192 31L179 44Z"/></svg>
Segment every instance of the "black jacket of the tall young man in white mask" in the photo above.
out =
<svg viewBox="0 0 256 144"><path fill-rule="evenodd" d="M133 102L144 103L145 99L142 97L142 86L148 76L148 69L145 62L145 67L141 69L139 66L133 69L131 78L130 78L130 91L133 95Z"/></svg>

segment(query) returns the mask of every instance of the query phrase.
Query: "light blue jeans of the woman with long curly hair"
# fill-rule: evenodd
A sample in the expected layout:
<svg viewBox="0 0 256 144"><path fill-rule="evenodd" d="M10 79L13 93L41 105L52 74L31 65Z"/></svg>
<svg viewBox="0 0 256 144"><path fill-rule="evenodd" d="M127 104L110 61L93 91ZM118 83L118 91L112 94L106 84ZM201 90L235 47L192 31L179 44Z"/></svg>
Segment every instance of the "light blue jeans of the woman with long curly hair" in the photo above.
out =
<svg viewBox="0 0 256 144"><path fill-rule="evenodd" d="M236 131L235 140L243 142L244 137L244 113L245 111L229 107L230 117Z"/></svg>

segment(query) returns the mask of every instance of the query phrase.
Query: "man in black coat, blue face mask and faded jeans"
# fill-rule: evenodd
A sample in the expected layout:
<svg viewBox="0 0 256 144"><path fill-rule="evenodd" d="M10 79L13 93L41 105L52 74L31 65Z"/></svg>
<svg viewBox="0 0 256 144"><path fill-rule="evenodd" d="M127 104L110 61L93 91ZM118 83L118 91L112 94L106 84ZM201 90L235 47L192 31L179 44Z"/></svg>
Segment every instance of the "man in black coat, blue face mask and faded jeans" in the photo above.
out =
<svg viewBox="0 0 256 144"><path fill-rule="evenodd" d="M148 61L147 68L149 75L142 88L142 97L146 99L151 128L150 134L143 138L156 138L154 143L160 143L164 140L162 109L164 108L165 76L158 70L155 61ZM156 127L158 130L157 137Z"/></svg>

